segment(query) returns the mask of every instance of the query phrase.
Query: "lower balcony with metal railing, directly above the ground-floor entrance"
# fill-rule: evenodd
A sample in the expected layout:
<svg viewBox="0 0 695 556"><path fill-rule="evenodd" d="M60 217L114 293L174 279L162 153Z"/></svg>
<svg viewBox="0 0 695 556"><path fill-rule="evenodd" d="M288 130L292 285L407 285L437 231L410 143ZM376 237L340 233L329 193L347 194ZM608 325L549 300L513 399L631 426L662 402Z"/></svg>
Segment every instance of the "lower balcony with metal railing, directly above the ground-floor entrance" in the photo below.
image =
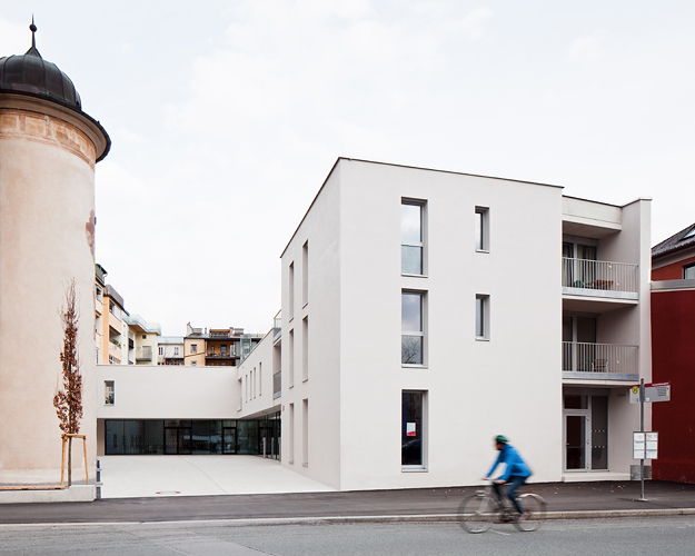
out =
<svg viewBox="0 0 695 556"><path fill-rule="evenodd" d="M563 341L563 378L639 380L637 346Z"/></svg>

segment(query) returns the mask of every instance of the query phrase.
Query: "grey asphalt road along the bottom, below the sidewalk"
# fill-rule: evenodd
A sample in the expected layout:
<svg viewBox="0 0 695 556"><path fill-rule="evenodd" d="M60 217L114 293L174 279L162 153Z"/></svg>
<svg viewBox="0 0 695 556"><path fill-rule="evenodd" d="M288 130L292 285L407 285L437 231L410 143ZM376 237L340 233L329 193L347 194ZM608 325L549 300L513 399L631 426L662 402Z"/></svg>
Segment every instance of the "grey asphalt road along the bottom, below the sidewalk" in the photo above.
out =
<svg viewBox="0 0 695 556"><path fill-rule="evenodd" d="M535 533L454 523L239 526L229 522L2 525L1 555L654 555L695 553L695 517L547 522Z"/></svg>

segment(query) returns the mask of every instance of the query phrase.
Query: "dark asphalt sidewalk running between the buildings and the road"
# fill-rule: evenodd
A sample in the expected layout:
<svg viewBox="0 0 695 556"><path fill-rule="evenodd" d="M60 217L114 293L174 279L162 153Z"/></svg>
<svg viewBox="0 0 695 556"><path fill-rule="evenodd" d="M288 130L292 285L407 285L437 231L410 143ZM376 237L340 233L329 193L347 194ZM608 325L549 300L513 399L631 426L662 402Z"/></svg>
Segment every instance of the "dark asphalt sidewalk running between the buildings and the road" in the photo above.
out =
<svg viewBox="0 0 695 556"><path fill-rule="evenodd" d="M455 487L8 504L0 506L0 524L447 522L456 519L459 504L476 489ZM645 488L648 502L636 502L639 483L550 483L530 485L525 490L535 492L547 500L549 518L695 515L695 485L648 481Z"/></svg>

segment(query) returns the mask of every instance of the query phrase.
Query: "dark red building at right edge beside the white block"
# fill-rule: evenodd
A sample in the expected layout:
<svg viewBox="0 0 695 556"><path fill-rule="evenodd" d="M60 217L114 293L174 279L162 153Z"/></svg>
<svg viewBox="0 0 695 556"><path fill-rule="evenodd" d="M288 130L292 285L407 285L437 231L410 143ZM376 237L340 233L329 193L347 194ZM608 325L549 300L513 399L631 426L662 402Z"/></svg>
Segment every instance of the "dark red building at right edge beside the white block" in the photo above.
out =
<svg viewBox="0 0 695 556"><path fill-rule="evenodd" d="M655 479L695 483L695 224L652 249L652 379L671 383L654 404Z"/></svg>

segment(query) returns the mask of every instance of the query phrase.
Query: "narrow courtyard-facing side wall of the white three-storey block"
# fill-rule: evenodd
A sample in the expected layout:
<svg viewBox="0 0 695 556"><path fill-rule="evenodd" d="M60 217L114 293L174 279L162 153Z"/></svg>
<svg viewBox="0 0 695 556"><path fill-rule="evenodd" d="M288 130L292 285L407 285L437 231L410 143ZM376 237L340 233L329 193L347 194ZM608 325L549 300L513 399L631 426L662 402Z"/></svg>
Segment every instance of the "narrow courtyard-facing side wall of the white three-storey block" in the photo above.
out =
<svg viewBox="0 0 695 556"><path fill-rule="evenodd" d="M340 487L340 221L341 183L334 168L282 254L282 466L334 488ZM302 300L302 246L309 241L308 304ZM289 307L288 268L295 267L295 309ZM302 319L309 318L309 375L302 379ZM289 379L290 330L294 331L294 383ZM359 350L359 344L349 346ZM309 400L309 454L302 461L302 401ZM289 406L294 404L294 455ZM294 461L294 463L290 463ZM302 464L308 465L302 465Z"/></svg>

